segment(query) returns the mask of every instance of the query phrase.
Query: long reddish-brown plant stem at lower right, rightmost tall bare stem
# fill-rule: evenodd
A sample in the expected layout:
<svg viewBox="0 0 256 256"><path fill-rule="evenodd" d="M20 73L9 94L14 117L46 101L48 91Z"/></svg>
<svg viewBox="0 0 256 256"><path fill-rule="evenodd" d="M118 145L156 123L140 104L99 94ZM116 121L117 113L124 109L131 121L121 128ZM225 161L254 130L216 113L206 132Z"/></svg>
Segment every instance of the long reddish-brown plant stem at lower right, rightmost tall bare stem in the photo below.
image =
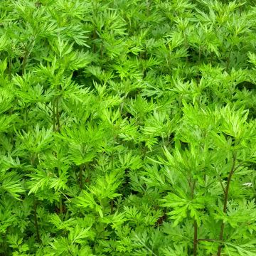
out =
<svg viewBox="0 0 256 256"><path fill-rule="evenodd" d="M229 188L230 188L231 178L232 178L232 176L233 176L233 174L235 172L235 161L236 161L236 154L233 154L233 163L232 163L232 167L231 167L230 173L228 175L227 186L225 187L223 213L227 213L228 192L229 192ZM219 237L220 241L223 240L224 228L225 228L225 223L224 223L224 220L223 220L221 225L220 225L220 237ZM222 246L219 245L219 247L218 247L218 256L220 256L221 248L222 248Z"/></svg>

